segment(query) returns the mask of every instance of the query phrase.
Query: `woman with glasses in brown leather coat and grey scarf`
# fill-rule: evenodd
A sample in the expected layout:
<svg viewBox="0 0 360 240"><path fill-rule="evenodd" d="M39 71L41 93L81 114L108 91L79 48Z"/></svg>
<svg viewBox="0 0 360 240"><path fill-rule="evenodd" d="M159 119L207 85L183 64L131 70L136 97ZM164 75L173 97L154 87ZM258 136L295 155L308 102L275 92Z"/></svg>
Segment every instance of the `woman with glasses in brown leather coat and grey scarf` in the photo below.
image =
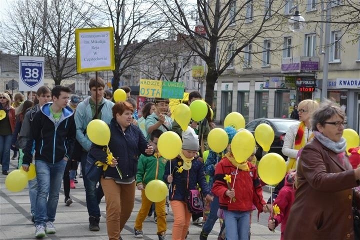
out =
<svg viewBox="0 0 360 240"><path fill-rule="evenodd" d="M352 169L342 137L345 112L326 100L311 120L314 138L298 159L295 200L284 239L354 239L351 203L360 206L360 168Z"/></svg>

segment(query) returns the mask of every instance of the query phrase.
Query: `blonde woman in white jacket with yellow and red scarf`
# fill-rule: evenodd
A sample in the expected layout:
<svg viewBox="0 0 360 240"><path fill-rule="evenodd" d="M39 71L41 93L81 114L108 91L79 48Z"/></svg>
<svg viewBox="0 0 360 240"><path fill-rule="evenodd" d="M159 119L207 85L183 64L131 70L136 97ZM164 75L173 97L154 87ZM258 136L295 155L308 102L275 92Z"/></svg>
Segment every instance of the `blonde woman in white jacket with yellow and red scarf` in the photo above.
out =
<svg viewBox="0 0 360 240"><path fill-rule="evenodd" d="M310 118L314 110L318 108L317 101L311 99L302 100L297 107L300 123L288 128L282 145L282 153L287 158L287 171L296 168L296 155L308 140L313 137Z"/></svg>

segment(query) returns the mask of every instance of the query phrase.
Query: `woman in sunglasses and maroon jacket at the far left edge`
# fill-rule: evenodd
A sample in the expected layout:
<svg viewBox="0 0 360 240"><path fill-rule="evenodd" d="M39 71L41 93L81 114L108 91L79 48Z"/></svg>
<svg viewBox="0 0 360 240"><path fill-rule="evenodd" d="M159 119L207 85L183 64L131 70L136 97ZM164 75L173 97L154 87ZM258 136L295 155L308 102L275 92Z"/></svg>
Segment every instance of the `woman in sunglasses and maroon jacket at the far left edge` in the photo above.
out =
<svg viewBox="0 0 360 240"><path fill-rule="evenodd" d="M0 164L3 175L8 174L11 137L15 127L15 108L10 104L10 96L5 92L0 92Z"/></svg>

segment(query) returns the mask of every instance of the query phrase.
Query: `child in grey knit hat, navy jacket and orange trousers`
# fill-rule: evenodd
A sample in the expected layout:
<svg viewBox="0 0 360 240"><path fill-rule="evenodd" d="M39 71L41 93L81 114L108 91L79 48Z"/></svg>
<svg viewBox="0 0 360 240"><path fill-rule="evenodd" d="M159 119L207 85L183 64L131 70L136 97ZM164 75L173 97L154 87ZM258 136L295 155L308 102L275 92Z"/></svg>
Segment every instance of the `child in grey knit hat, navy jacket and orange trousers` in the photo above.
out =
<svg viewBox="0 0 360 240"><path fill-rule="evenodd" d="M199 149L198 136L192 128L182 132L182 147L177 157L167 161L164 181L169 187L169 201L173 212L172 240L183 240L190 225L192 213L202 211L203 201L212 200L203 171L202 159L197 155ZM201 159L201 160L200 160ZM196 188L201 188L201 193Z"/></svg>

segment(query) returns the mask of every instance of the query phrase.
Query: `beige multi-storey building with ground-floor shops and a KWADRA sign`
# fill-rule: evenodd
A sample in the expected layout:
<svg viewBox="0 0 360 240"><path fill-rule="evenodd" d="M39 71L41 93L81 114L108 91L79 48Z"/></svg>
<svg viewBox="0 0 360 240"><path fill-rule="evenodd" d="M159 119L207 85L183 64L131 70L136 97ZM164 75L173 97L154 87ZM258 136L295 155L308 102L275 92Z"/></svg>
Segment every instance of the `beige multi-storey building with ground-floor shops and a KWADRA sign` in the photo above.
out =
<svg viewBox="0 0 360 240"><path fill-rule="evenodd" d="M244 15L259 15L266 8L276 7L276 11L289 18L298 9L305 21L311 22L305 23L300 32L284 26L282 31L273 32L267 38L255 39L256 43L248 44L244 52L238 53L234 64L215 84L214 102L219 121L231 111L240 112L246 122L259 117L288 116L293 105L303 99L320 101L326 23L315 21L325 19L321 18L326 14L325 5L319 0L274 1L273 5L264 0L261 9L251 5L254 2L244 9ZM336 22L347 19L348 7L342 5L341 0L332 1L331 14L336 15ZM266 14L273 24L278 21L276 17L271 19L271 9ZM244 24L255 27L259 22L247 20ZM347 126L359 131L360 32L331 23L329 35L327 97L346 110Z"/></svg>

